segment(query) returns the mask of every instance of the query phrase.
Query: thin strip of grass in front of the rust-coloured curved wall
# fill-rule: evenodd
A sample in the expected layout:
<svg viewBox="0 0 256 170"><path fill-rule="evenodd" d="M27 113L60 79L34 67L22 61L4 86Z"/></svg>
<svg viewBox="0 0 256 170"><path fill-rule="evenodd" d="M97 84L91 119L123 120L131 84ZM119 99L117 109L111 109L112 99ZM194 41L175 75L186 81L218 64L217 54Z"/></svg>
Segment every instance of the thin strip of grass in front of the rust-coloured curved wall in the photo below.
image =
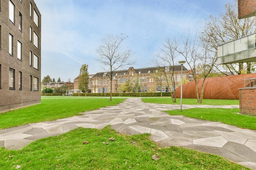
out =
<svg viewBox="0 0 256 170"><path fill-rule="evenodd" d="M180 99L176 99L173 103L171 98L142 98L142 102L157 103L157 104L180 104ZM182 99L182 104L196 104L196 105L238 105L239 100L216 100L203 99L202 103L197 103L197 99Z"/></svg>

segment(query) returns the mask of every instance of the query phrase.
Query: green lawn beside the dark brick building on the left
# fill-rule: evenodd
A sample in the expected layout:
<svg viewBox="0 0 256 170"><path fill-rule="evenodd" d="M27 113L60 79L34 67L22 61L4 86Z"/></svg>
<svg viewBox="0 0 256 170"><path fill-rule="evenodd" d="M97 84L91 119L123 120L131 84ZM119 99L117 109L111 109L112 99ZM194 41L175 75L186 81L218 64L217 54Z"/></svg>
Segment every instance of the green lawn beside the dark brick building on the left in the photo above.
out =
<svg viewBox="0 0 256 170"><path fill-rule="evenodd" d="M125 98L112 99L43 99L42 103L0 114L0 129L29 123L52 121L79 115L81 112L96 110L105 106L113 106L123 102Z"/></svg>

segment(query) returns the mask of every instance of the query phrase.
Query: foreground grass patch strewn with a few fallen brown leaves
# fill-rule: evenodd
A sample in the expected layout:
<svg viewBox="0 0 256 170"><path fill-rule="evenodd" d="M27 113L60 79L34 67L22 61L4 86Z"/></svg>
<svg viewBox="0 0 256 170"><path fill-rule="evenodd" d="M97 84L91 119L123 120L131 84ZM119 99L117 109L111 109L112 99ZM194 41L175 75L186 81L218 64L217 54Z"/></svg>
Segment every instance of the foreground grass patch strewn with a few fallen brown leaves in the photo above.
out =
<svg viewBox="0 0 256 170"><path fill-rule="evenodd" d="M115 141L109 141L110 137ZM160 159L151 159L154 154ZM217 155L180 147L160 149L149 134L119 135L109 126L102 130L77 128L21 150L1 148L0 168L14 170L17 165L20 170L250 170Z"/></svg>

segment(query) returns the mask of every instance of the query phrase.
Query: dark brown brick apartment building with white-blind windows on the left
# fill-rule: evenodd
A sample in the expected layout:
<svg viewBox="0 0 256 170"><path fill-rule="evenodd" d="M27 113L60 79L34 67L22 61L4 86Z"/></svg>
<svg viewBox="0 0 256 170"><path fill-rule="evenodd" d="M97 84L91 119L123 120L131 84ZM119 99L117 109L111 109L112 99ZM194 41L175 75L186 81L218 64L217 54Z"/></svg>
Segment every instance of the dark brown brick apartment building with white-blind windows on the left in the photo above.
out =
<svg viewBox="0 0 256 170"><path fill-rule="evenodd" d="M0 1L0 113L41 102L41 15L33 0Z"/></svg>

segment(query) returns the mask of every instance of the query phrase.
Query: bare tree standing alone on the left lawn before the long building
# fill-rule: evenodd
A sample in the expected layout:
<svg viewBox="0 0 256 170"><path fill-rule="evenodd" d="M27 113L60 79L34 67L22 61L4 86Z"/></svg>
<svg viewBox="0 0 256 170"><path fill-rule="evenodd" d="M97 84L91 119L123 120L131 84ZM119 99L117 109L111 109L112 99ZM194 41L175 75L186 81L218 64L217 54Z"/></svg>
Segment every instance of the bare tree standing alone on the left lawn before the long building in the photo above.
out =
<svg viewBox="0 0 256 170"><path fill-rule="evenodd" d="M110 101L112 101L112 80L114 71L134 63L130 62L131 51L121 48L122 42L124 42L127 37L128 36L123 34L107 35L106 38L101 40L101 45L99 49L97 49L97 53L99 54L97 61L103 64L105 71L110 73L107 74L110 78Z"/></svg>

